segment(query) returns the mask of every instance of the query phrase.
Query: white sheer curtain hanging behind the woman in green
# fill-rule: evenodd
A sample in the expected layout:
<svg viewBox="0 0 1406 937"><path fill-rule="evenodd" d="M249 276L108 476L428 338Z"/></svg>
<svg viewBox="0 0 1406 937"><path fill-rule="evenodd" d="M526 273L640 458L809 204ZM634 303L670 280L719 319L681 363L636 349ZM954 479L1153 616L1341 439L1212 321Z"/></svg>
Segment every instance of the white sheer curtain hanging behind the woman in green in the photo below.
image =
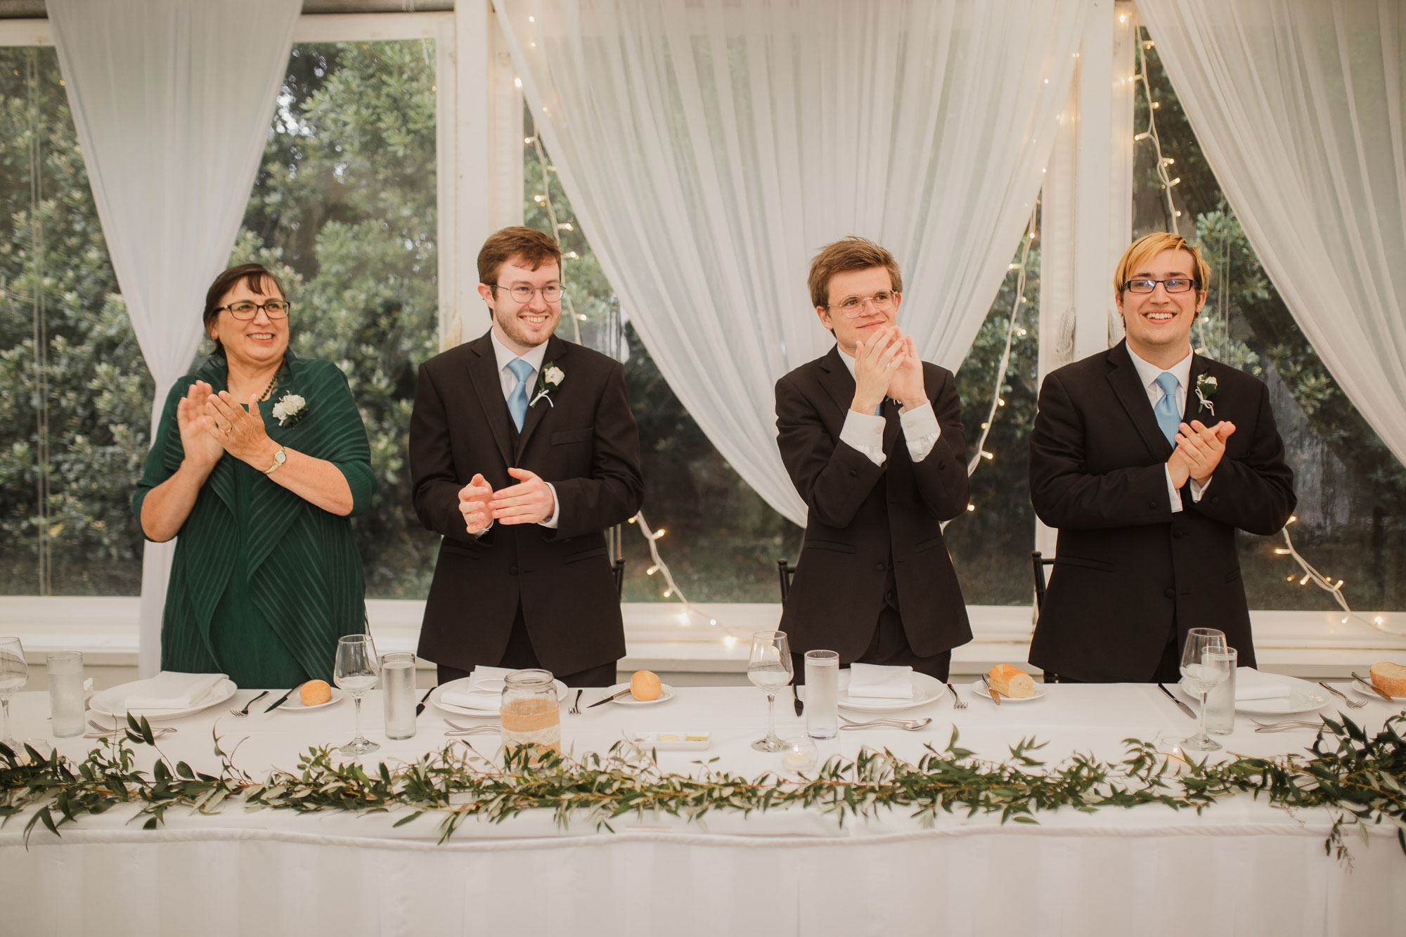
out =
<svg viewBox="0 0 1406 937"><path fill-rule="evenodd" d="M155 436L249 203L301 0L49 0L112 270L156 378ZM174 543L146 544L141 674L160 664Z"/></svg>

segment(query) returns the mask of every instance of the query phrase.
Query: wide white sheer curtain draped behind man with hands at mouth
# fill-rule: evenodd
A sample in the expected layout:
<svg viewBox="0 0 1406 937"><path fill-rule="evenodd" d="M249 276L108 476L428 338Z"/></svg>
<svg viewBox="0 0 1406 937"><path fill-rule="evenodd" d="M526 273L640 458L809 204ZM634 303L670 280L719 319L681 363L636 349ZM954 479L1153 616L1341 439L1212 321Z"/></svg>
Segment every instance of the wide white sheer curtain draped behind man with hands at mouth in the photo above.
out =
<svg viewBox="0 0 1406 937"><path fill-rule="evenodd" d="M1088 6L499 4L626 314L709 439L796 523L773 384L832 343L810 259L849 234L887 246L900 325L955 369L1035 205Z"/></svg>

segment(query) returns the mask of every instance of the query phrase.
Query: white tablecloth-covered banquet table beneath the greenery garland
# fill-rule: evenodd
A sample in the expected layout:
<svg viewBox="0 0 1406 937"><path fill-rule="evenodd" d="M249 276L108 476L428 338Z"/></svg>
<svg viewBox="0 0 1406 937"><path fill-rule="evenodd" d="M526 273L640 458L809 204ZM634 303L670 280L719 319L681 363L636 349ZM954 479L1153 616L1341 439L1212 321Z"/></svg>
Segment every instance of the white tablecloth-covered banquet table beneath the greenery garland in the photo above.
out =
<svg viewBox="0 0 1406 937"><path fill-rule="evenodd" d="M955 709L943 696L905 718L931 716L920 732L841 732L818 741L821 758L852 758L860 746L910 761L941 750L953 727L960 744L1000 760L1024 737L1047 743L1056 763L1071 753L1116 760L1123 739L1191 734L1194 722L1156 687L1049 685L1029 702L993 705L969 687ZM309 746L352 737L352 701L323 709L231 715L257 691L173 720L159 740L172 760L214 771L212 733L256 778L295 770ZM423 691L422 691L423 692ZM600 695L585 691L583 703ZM605 751L641 732L711 733L707 751L659 751L664 770L697 771L700 760L748 777L779 771L780 757L754 751L765 732L761 691L686 687L651 706L606 703L567 712L562 744L578 756ZM273 699L273 696L266 698ZM1336 698L1334 698L1336 701ZM787 692L778 698L782 737L804 733ZM1337 701L1336 701L1337 702ZM46 739L48 695L11 703L18 739ZM1324 706L1333 715L1337 706ZM1369 732L1398 712L1385 701L1348 710ZM378 691L361 720L381 750L375 767L443 747L444 716L427 706L416 736L387 740ZM863 718L851 713L855 718ZM460 720L458 716L454 716ZM472 722L463 719L463 722ZM1308 730L1253 732L1237 716L1220 737L1244 756L1302 751ZM468 739L491 756L495 739ZM100 744L49 740L82 758ZM152 754L138 746L139 758ZM444 844L436 819L392 827L405 813L246 812L181 808L143 830L134 808L118 806L60 827L35 827L28 846L21 815L0 827L0 933L13 934L1392 934L1406 922L1406 854L1393 827L1351 831L1350 861L1324 850L1333 816L1288 812L1247 795L1202 813L1161 805L1042 812L1038 824L990 815L941 815L925 827L908 810L846 817L817 809L744 816L709 813L688 823L627 816L614 831L585 822L561 829L550 812L502 823L465 822Z"/></svg>

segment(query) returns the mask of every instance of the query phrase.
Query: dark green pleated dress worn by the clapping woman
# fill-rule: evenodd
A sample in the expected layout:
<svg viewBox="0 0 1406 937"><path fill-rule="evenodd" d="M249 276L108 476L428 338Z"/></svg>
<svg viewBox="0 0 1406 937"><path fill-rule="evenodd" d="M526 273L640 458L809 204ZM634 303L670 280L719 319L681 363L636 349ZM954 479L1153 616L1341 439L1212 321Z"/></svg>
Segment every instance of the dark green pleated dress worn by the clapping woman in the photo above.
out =
<svg viewBox="0 0 1406 937"><path fill-rule="evenodd" d="M197 380L228 390L224 355L176 381L156 442L132 495L138 523L146 492L180 467L184 449L176 405ZM274 402L307 401L305 415L280 426ZM278 445L342 471L352 515L375 488L371 449L346 376L330 362L288 352L260 414ZM337 639L366 620L361 557L349 518L304 501L245 461L225 454L209 473L181 526L162 615L162 668L229 674L239 687L291 687L332 681Z"/></svg>

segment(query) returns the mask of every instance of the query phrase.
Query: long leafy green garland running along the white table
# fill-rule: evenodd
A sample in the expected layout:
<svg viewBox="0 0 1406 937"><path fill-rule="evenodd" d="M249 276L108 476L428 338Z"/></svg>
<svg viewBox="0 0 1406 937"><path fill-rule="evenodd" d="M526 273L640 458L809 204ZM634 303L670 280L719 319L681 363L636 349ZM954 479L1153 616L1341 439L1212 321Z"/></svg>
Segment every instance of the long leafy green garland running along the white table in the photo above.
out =
<svg viewBox="0 0 1406 937"><path fill-rule="evenodd" d="M17 754L0 746L0 817L7 823L37 808L25 826L25 843L35 824L55 836L59 826L84 813L103 813L118 803L139 805L145 829L156 829L170 808L186 806L214 813L229 799L246 810L276 809L304 813L350 810L359 813L412 808L396 820L401 826L425 813L440 815L440 843L468 817L502 822L523 810L548 809L565 827L585 817L595 829L612 830L616 817L650 812L699 822L713 810L752 812L790 806L834 813L842 826L846 816L869 817L882 808L911 810L925 827L939 812L1000 813L1001 822L1036 823L1038 810L1073 808L1133 808L1161 803L1198 813L1216 799L1264 793L1284 809L1327 808L1336 813L1324 851L1347 860L1343 831L1358 826L1392 823L1406 851L1406 715L1386 719L1368 737L1354 722L1323 720L1312 757L1237 757L1212 764L1170 760L1156 746L1125 739L1122 761L1105 763L1085 754L1046 767L1035 757L1042 744L1025 739L1011 746L998 763L983 761L957 747L957 732L942 750L927 746L915 764L889 751L865 748L855 760L838 756L814 775L789 779L772 772L744 778L700 763L696 775L661 771L655 754L616 743L609 753L581 758L541 754L530 747L512 748L502 761L485 758L453 743L415 763L378 764L368 774L356 763L333 763L333 750L309 748L298 772L274 770L256 781L235 767L215 739L218 775L194 771L184 761L172 764L152 734L146 719L128 716L125 739L93 748L82 763L56 751L45 757L27 746ZM152 771L135 768L135 750L127 743L156 748Z"/></svg>

